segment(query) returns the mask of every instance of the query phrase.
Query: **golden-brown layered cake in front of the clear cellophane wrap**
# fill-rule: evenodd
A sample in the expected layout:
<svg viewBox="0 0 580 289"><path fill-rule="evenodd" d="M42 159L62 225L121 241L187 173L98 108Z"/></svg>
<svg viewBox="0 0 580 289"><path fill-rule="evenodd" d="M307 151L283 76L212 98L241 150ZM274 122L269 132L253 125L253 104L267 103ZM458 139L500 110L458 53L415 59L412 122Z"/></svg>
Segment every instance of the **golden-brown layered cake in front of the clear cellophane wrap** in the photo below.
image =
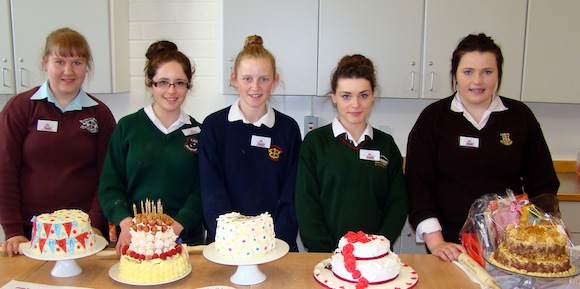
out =
<svg viewBox="0 0 580 289"><path fill-rule="evenodd" d="M568 276L575 266L570 264L567 244L568 237L558 226L510 224L491 260L494 265L522 274Z"/></svg>

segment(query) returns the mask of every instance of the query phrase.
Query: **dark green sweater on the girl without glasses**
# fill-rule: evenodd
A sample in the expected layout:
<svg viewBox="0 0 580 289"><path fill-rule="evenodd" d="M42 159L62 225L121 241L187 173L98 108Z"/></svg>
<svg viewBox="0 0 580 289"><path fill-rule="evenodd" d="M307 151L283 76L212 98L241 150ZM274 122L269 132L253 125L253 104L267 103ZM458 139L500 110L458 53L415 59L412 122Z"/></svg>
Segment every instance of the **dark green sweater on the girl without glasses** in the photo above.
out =
<svg viewBox="0 0 580 289"><path fill-rule="evenodd" d="M369 160L370 151L380 158ZM332 252L348 231L387 237L393 244L407 217L403 159L393 138L373 129L358 147L331 125L309 132L300 150L296 214L311 252Z"/></svg>

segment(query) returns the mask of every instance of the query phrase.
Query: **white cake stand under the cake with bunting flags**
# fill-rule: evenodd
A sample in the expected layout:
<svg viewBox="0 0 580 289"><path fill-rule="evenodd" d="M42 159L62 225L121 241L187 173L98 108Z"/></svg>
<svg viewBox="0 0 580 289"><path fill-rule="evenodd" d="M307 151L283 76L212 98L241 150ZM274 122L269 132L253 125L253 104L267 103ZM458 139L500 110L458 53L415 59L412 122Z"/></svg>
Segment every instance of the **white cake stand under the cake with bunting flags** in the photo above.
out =
<svg viewBox="0 0 580 289"><path fill-rule="evenodd" d="M50 271L50 274L54 277L72 277L80 274L83 269L77 264L75 259L87 257L93 255L95 253L100 252L107 246L107 240L101 236L95 236L95 246L92 249L86 250L81 253L75 253L66 256L47 256L47 255L38 255L32 252L30 248L30 242L28 245L22 249L22 253L24 255L42 261L56 261L56 264Z"/></svg>

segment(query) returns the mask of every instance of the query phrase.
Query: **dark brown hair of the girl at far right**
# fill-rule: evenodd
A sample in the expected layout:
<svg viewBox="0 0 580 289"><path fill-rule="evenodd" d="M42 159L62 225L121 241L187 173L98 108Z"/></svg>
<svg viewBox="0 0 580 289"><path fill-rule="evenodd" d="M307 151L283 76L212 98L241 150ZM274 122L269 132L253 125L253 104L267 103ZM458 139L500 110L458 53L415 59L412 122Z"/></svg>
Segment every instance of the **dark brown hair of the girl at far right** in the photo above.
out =
<svg viewBox="0 0 580 289"><path fill-rule="evenodd" d="M501 86L501 76L503 74L503 55L501 54L501 48L495 44L491 37L485 35L484 33L480 33L478 35L467 35L465 38L461 39L457 45L457 48L455 48L455 51L453 51L453 56L451 57L451 71L449 72L451 76L451 90L457 90L457 68L459 67L461 57L463 57L463 55L468 52L491 52L495 55L498 72L497 89L499 90L499 87Z"/></svg>

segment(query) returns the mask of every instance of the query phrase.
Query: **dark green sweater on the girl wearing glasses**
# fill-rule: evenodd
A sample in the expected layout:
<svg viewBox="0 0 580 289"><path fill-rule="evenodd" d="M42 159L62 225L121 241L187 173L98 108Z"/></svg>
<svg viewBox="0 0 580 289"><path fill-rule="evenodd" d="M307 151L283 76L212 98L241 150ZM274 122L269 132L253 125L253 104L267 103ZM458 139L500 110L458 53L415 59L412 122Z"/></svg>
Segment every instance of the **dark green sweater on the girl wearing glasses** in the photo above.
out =
<svg viewBox="0 0 580 289"><path fill-rule="evenodd" d="M184 227L181 236L201 228L198 168L201 125L191 124L164 134L143 109L122 118L109 143L99 188L107 218L119 224L133 217L133 204L161 199L163 212Z"/></svg>

